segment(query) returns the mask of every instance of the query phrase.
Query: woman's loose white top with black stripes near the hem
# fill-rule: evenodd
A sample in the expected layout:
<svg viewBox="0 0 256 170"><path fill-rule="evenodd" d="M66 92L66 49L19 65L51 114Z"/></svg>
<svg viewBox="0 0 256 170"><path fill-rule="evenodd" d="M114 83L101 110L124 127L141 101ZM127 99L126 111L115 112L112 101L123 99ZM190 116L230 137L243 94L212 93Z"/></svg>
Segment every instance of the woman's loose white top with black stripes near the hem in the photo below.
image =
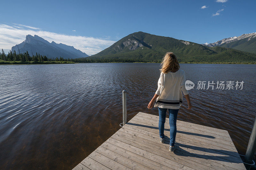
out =
<svg viewBox="0 0 256 170"><path fill-rule="evenodd" d="M182 105L182 93L188 94L185 88L185 72L178 70L175 73L161 73L158 80L158 89L156 94L156 104L154 107L167 108L167 109L180 109Z"/></svg>

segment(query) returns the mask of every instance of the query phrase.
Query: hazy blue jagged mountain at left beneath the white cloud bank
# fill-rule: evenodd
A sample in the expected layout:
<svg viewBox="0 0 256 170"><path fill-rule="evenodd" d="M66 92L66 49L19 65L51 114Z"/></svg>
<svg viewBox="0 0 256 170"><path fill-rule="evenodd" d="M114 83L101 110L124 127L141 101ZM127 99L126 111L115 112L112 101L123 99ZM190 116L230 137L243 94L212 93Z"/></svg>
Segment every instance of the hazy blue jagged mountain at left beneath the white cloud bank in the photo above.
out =
<svg viewBox="0 0 256 170"><path fill-rule="evenodd" d="M54 41L52 43L46 41L45 39L35 35L27 35L26 40L22 43L13 46L12 51L16 53L26 53L28 51L29 55L45 55L49 58L63 57L64 59L75 59L78 57L87 57L86 53L77 50L73 46L67 46L65 44L57 44Z"/></svg>

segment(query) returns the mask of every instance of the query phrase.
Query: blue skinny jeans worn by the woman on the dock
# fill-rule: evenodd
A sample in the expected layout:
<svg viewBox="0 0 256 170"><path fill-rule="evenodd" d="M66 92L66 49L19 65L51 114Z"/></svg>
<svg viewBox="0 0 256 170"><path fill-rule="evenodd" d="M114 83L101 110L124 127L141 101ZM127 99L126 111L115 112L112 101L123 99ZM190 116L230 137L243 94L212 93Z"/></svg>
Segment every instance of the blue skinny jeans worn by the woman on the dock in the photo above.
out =
<svg viewBox="0 0 256 170"><path fill-rule="evenodd" d="M166 108L159 108L159 135L160 138L164 138L164 123L165 123L165 117L166 117ZM170 145L174 146L176 133L177 133L177 127L176 127L176 121L178 116L179 109L169 109L169 124L170 124Z"/></svg>

